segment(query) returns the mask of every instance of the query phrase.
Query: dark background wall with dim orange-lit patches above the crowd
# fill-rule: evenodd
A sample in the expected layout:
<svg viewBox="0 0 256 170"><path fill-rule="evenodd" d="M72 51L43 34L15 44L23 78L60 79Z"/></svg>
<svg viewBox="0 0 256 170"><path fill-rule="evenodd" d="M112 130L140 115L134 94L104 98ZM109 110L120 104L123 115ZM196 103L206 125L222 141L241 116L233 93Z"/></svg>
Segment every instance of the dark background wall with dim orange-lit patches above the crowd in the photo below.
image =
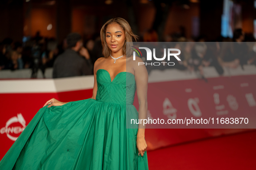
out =
<svg viewBox="0 0 256 170"><path fill-rule="evenodd" d="M242 5L243 30L253 32L254 1L236 2ZM23 35L35 36L37 31L58 41L71 31L88 37L113 17L126 19L140 36L156 29L159 41L180 27L187 38L206 35L212 40L220 36L223 0L1 0L0 11L0 41L21 41ZM46 29L49 24L51 30Z"/></svg>

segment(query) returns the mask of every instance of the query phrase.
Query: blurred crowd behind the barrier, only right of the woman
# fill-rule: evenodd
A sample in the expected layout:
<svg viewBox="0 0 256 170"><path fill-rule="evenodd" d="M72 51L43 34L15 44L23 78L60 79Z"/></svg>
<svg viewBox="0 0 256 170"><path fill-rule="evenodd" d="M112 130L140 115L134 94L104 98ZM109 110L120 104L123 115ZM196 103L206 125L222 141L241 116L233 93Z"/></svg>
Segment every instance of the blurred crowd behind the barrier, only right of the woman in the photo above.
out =
<svg viewBox="0 0 256 170"><path fill-rule="evenodd" d="M201 35L198 38L188 39L185 37L185 33L182 30L183 29L178 33L165 36L162 40L165 42L163 47L155 47L156 49L161 49L161 51L159 51L160 56L161 54L163 56L164 48L177 48L181 50L181 54L178 55L181 61L177 62L177 60L172 57L170 59L175 63L174 66L170 67L166 64L162 64L162 66L149 65L147 66L149 72L152 69L175 68L179 70L189 70L191 72L197 71L204 77L203 68L207 66L214 66L217 73L222 75L224 73L223 67L236 69L241 66L243 69L245 64L256 65L256 40L253 34L245 34L242 29L235 29L233 38L220 36L215 40L209 40L206 36ZM158 41L156 31L147 31L143 36L143 41ZM161 45L161 43L159 43L159 45ZM168 47L166 47L166 45L168 45ZM154 60L152 62L159 61ZM165 60L165 62L167 62L167 60Z"/></svg>

